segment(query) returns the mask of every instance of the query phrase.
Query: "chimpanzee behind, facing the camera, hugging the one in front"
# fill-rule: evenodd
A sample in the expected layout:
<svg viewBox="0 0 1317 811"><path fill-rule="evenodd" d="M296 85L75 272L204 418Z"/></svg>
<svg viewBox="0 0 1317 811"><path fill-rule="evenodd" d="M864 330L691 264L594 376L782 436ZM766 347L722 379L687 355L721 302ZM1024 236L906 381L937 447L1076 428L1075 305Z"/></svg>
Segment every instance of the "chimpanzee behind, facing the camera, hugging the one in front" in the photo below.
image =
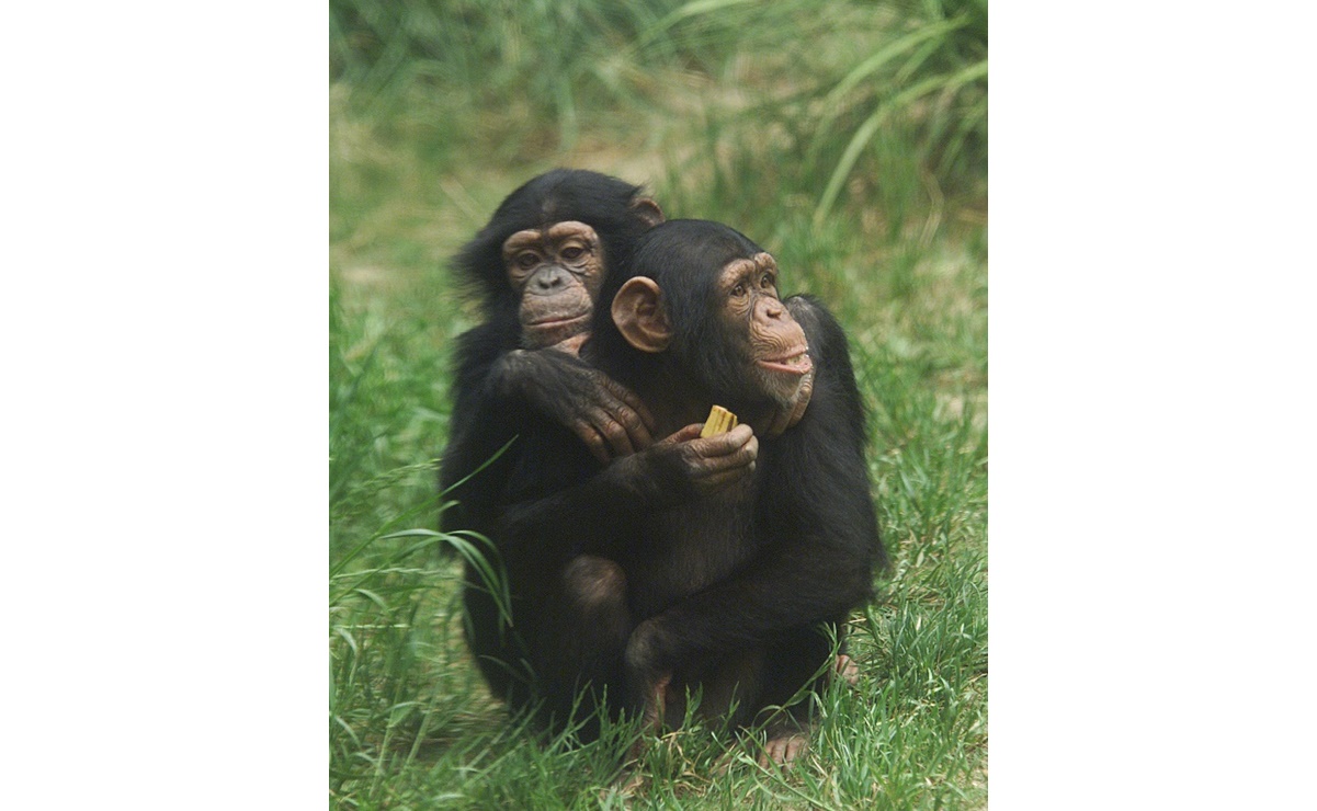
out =
<svg viewBox="0 0 1317 811"><path fill-rule="evenodd" d="M644 404L582 363L576 352L590 325L599 286L635 241L664 219L637 186L586 170L557 169L510 194L454 257L478 288L485 323L457 340L454 407L440 488L449 490L494 457L531 415L569 427L602 462L652 438ZM514 448L453 492L443 529L497 540L494 499ZM511 644L497 602L468 563L468 636L494 693L508 698ZM498 658L494 657L498 654Z"/></svg>

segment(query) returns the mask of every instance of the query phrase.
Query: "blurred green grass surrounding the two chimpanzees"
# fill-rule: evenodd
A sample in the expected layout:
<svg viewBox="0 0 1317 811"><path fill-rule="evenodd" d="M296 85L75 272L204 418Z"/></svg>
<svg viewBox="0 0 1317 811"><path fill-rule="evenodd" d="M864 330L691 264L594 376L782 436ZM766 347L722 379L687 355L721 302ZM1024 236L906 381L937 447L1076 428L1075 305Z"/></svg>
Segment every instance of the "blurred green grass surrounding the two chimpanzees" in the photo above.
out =
<svg viewBox="0 0 1317 811"><path fill-rule="evenodd" d="M433 532L446 258L529 176L644 183L726 221L847 327L894 557L788 773L699 725L656 807L986 802L986 1L329 4L331 803L614 807L608 741L536 745L461 641Z"/></svg>

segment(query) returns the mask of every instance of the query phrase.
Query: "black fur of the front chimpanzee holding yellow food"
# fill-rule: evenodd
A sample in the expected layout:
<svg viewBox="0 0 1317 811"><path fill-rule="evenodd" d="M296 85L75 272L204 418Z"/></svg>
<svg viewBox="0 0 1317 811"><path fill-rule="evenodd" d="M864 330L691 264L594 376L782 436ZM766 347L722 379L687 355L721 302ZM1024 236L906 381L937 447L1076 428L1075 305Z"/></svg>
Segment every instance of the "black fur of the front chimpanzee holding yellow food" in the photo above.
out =
<svg viewBox="0 0 1317 811"><path fill-rule="evenodd" d="M727 226L677 220L641 237L608 274L585 355L655 411L656 437L744 396L747 371L718 342L712 282L727 261L759 251ZM607 303L633 275L664 291L678 337L662 355L633 350L608 317ZM697 499L652 449L602 467L561 427L533 416L523 427L490 527L518 633L494 642L487 603L466 603L477 635L486 629L483 644L473 641L486 674L533 674L504 690L515 707L543 700L561 725L583 690L585 710L607 695L616 714L639 707L647 681L672 673L678 689L703 687L715 710L730 710L735 685L731 720L747 723L828 664L828 631L869 599L885 553L846 334L814 299L786 304L809 340L813 398L795 427L760 437L757 467L741 484ZM590 599L574 581L582 571Z"/></svg>

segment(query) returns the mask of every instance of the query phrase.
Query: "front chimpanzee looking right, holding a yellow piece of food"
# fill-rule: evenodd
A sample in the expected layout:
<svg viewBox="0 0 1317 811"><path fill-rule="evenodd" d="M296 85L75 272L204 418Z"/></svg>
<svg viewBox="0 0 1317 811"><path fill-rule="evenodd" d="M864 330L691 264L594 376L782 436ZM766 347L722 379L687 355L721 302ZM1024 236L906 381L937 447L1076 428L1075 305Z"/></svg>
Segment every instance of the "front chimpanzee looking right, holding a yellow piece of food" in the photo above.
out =
<svg viewBox="0 0 1317 811"><path fill-rule="evenodd" d="M698 220L645 233L601 300L582 357L666 438L601 467L552 420L523 427L495 512L529 607L527 700L557 723L601 703L680 721L699 689L702 712L749 723L817 686L885 565L846 334L818 301L778 298L763 249ZM807 411L772 436L811 374ZM741 424L699 438L712 404ZM768 757L793 758L807 723L803 704L776 720Z"/></svg>

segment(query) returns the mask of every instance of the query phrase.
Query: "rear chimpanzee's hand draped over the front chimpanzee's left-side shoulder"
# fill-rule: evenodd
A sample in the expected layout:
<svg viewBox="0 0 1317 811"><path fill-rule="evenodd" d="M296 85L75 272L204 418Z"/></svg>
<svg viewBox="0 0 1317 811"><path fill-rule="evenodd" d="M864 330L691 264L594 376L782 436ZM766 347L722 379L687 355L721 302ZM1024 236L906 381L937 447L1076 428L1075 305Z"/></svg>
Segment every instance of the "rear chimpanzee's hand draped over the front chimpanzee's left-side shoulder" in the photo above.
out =
<svg viewBox="0 0 1317 811"><path fill-rule="evenodd" d="M627 387L554 349L516 350L500 362L502 383L581 437L602 463L653 442L653 416Z"/></svg>

